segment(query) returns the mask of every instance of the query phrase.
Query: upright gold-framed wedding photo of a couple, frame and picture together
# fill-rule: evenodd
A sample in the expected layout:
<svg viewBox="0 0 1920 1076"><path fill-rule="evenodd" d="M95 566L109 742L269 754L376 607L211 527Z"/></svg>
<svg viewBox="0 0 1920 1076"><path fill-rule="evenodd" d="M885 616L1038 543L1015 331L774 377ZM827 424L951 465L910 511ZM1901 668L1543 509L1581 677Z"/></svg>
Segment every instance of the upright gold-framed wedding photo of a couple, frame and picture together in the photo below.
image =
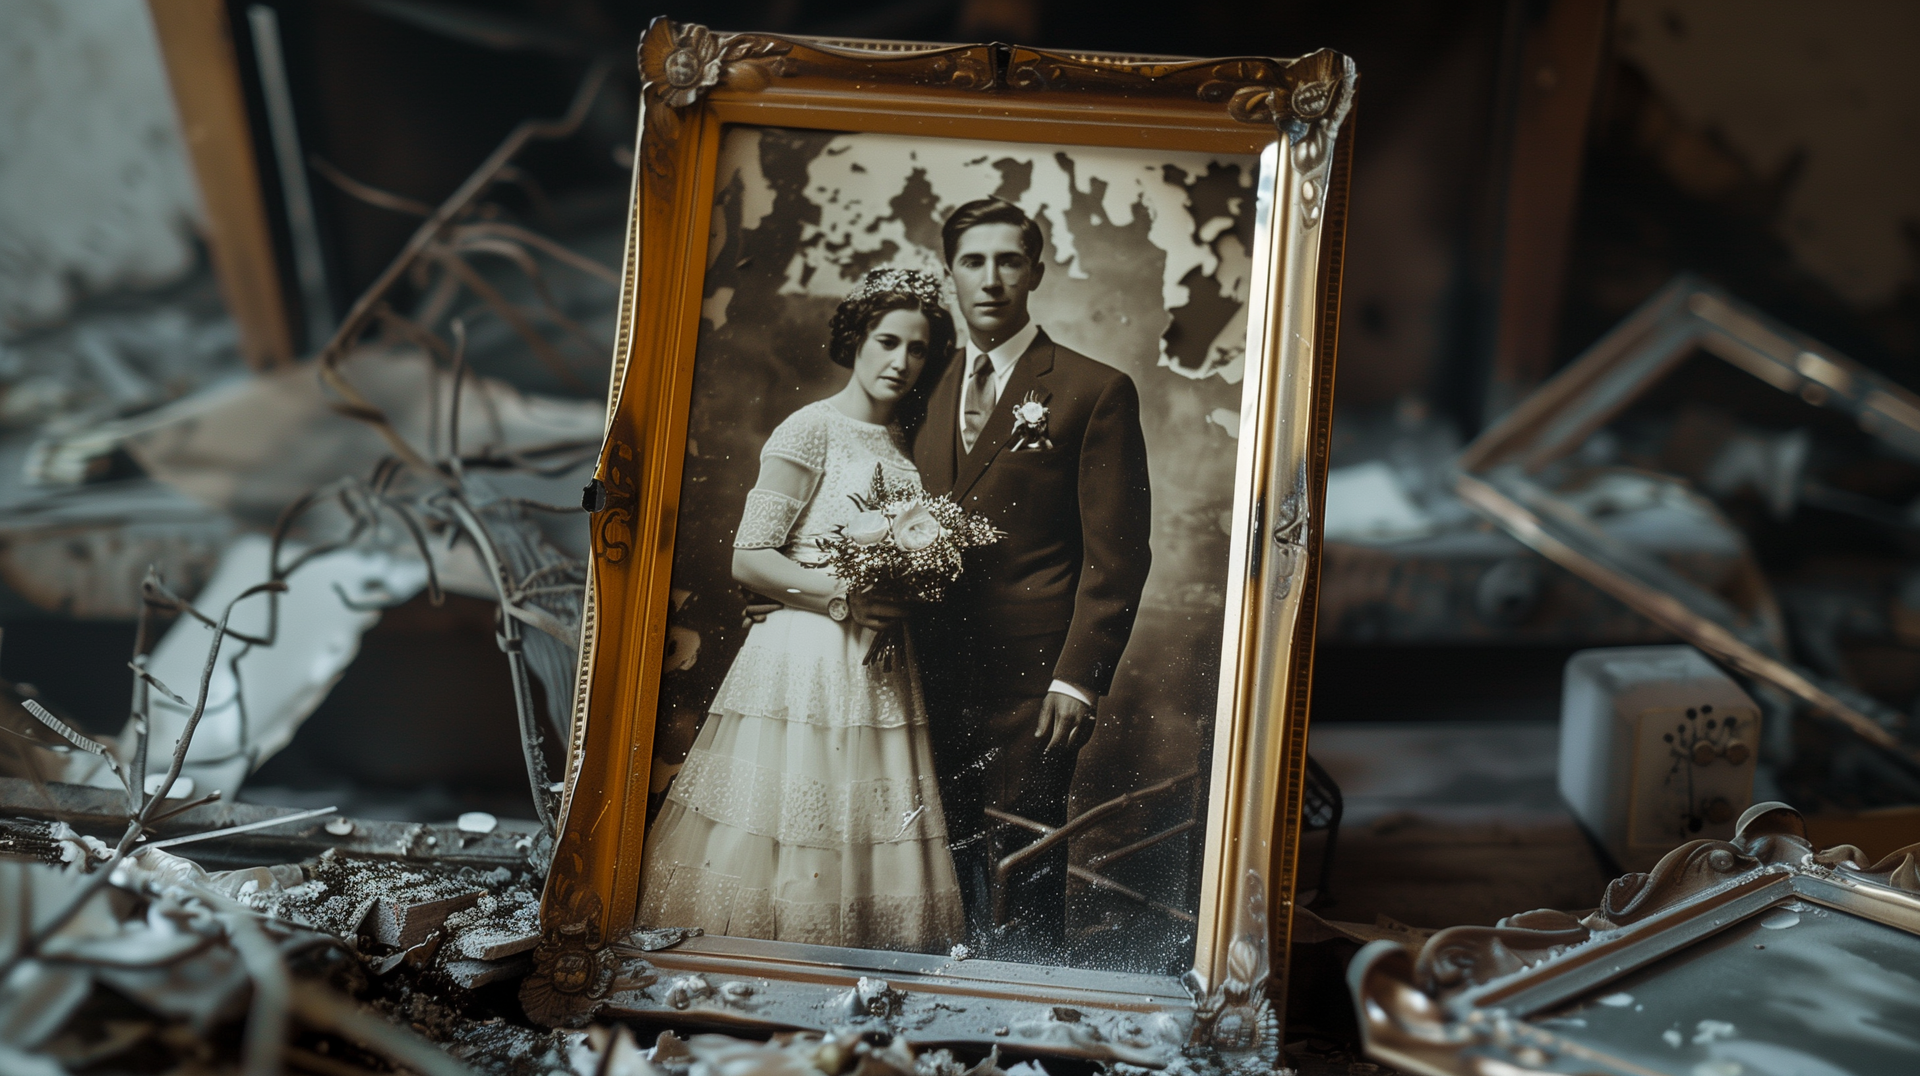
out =
<svg viewBox="0 0 1920 1076"><path fill-rule="evenodd" d="M1352 61L639 65L528 1011L1277 1057Z"/></svg>

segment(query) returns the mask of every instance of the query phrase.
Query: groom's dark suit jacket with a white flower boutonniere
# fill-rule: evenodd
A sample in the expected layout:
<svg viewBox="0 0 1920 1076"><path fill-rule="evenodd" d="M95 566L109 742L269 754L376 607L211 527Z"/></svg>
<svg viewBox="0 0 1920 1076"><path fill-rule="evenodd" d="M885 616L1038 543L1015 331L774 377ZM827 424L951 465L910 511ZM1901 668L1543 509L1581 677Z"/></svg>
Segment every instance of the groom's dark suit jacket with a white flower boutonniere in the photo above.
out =
<svg viewBox="0 0 1920 1076"><path fill-rule="evenodd" d="M1152 557L1140 396L1125 373L1041 332L968 453L958 430L964 367L948 365L935 386L914 463L929 492L950 492L1006 536L968 551L960 582L929 613L941 623L933 634L950 638L958 628L996 642L1064 634L1052 676L1106 694ZM1016 452L1012 409L1029 392L1046 405L1052 448Z"/></svg>

